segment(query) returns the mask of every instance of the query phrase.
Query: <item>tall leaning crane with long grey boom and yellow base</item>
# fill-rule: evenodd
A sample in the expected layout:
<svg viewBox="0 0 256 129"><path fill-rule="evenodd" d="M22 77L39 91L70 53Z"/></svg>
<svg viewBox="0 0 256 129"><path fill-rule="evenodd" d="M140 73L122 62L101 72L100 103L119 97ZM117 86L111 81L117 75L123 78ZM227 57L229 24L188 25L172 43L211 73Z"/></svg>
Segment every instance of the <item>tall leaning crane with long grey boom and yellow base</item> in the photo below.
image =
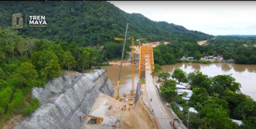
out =
<svg viewBox="0 0 256 129"><path fill-rule="evenodd" d="M117 80L116 93L115 93L115 96L114 96L114 98L117 99L117 100L121 100L121 98L119 98L119 82L120 82L120 78L121 78L121 69L122 69L122 63L123 63L123 53L124 53L124 46L125 46L125 41L126 41L128 25L129 25L129 23L127 23L127 25L126 25L124 42L123 42L123 51L122 51L121 63L120 63L120 68L119 68L118 80Z"/></svg>

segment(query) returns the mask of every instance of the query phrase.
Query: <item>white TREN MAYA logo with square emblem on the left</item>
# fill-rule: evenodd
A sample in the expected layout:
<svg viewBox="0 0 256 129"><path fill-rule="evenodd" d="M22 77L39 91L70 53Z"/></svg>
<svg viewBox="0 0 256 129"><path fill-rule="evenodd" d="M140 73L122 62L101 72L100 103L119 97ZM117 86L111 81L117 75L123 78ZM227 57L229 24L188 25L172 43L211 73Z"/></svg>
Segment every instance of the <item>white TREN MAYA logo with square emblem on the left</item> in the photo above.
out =
<svg viewBox="0 0 256 129"><path fill-rule="evenodd" d="M27 17L28 17L28 20L27 20ZM46 27L46 25L47 25L46 16L35 16L35 15L27 16L27 15L25 15L25 27L26 28L27 28L27 23L28 23L28 27ZM13 28L23 28L23 24L24 24L23 14L15 13L12 15L12 27Z"/></svg>

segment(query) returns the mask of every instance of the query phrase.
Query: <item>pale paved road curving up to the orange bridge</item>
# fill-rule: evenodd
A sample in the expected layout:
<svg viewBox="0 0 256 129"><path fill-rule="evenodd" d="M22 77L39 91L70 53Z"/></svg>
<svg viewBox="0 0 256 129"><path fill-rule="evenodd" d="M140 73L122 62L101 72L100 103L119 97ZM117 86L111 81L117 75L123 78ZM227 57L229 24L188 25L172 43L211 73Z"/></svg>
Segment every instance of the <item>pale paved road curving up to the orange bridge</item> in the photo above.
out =
<svg viewBox="0 0 256 129"><path fill-rule="evenodd" d="M151 70L145 71L145 82L146 82L146 92L148 99L152 98L152 101L150 102L151 107L154 110L154 113L163 129L165 128L173 128L170 126L169 121L173 118L171 116L165 106L161 102L161 98L157 94L157 89L154 86L153 78L151 75Z"/></svg>

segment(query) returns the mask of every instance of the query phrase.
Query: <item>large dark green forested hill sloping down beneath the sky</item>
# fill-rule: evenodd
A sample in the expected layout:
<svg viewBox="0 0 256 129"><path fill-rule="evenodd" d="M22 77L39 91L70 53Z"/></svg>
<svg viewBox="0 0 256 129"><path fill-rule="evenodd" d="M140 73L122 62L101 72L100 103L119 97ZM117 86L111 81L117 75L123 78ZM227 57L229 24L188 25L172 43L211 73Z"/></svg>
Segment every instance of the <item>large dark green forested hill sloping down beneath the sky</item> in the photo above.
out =
<svg viewBox="0 0 256 129"><path fill-rule="evenodd" d="M45 15L46 28L17 29L19 34L53 41L77 42L88 46L124 37L126 23L135 39L147 41L196 42L211 38L198 31L189 31L180 25L152 21L141 14L129 14L109 2L0 2L1 27L12 27L12 14Z"/></svg>

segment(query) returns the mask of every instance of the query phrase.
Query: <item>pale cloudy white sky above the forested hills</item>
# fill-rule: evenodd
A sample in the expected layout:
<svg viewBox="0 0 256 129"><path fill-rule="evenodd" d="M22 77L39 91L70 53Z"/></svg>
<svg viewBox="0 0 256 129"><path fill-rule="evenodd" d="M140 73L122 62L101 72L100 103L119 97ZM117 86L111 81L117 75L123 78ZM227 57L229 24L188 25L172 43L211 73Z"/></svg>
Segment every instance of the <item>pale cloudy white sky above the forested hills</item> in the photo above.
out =
<svg viewBox="0 0 256 129"><path fill-rule="evenodd" d="M109 1L127 13L210 35L256 35L256 1Z"/></svg>

